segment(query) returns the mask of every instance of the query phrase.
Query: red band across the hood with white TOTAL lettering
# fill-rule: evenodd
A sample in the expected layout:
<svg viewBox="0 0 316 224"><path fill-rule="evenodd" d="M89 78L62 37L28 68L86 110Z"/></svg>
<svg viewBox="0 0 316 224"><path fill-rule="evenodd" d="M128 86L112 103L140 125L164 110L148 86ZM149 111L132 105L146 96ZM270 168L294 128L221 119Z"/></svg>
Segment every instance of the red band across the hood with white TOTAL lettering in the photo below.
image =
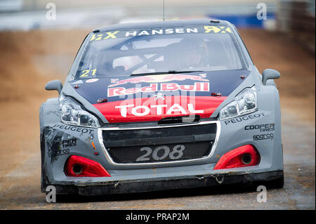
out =
<svg viewBox="0 0 316 224"><path fill-rule="evenodd" d="M110 123L159 121L164 117L192 114L199 114L202 118L211 117L225 98L225 96L164 96L164 99L133 98L98 103L93 106Z"/></svg>

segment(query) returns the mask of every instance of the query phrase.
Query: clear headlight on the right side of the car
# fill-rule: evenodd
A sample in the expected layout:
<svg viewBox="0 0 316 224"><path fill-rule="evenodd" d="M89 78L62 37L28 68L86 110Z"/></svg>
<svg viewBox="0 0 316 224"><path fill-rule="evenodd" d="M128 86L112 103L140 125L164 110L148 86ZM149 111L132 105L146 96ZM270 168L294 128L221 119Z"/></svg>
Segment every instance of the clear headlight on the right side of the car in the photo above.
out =
<svg viewBox="0 0 316 224"><path fill-rule="evenodd" d="M244 114L250 114L258 110L257 91L255 87L246 88L239 93L232 103L229 103L220 110L220 119L238 117Z"/></svg>

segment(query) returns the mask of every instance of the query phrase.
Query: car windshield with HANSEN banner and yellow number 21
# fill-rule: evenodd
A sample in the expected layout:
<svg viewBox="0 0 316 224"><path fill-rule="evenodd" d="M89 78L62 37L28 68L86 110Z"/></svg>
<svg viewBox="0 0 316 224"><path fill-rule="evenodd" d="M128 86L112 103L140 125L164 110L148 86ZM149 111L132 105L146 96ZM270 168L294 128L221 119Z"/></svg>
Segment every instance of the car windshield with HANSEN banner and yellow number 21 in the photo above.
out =
<svg viewBox="0 0 316 224"><path fill-rule="evenodd" d="M240 70L229 27L98 32L88 37L75 79L157 72Z"/></svg>

